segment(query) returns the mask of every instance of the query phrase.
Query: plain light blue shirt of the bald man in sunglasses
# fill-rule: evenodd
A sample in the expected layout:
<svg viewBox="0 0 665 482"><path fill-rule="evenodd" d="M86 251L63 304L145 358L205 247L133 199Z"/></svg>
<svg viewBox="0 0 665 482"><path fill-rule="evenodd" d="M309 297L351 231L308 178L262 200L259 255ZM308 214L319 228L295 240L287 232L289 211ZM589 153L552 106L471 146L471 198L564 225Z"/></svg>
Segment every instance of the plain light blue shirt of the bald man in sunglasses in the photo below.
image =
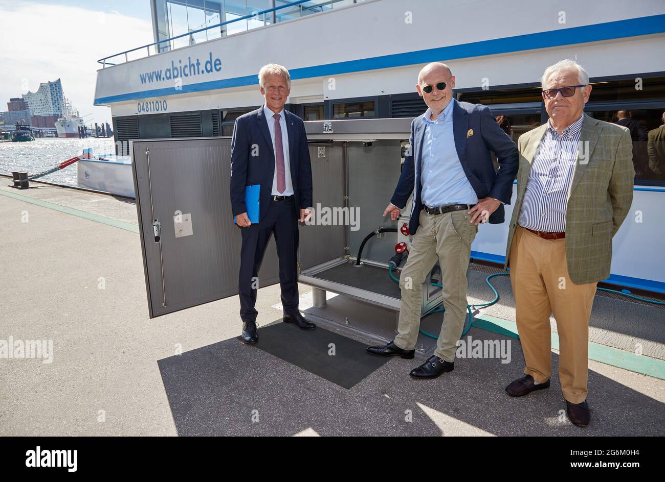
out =
<svg viewBox="0 0 665 482"><path fill-rule="evenodd" d="M422 120L425 135L422 145L422 202L426 206L444 204L476 204L478 197L469 183L460 157L455 148L453 135L454 100L431 121L432 111L428 108Z"/></svg>

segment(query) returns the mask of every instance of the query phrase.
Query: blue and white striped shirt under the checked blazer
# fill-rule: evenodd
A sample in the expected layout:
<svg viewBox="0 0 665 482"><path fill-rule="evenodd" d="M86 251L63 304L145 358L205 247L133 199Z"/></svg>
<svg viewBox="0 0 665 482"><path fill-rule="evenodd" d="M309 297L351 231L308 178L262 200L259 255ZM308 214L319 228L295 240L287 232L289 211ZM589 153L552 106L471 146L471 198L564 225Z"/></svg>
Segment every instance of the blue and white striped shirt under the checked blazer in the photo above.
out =
<svg viewBox="0 0 665 482"><path fill-rule="evenodd" d="M577 162L584 114L561 135L547 121L547 131L531 163L519 224L543 232L565 232L566 208Z"/></svg>

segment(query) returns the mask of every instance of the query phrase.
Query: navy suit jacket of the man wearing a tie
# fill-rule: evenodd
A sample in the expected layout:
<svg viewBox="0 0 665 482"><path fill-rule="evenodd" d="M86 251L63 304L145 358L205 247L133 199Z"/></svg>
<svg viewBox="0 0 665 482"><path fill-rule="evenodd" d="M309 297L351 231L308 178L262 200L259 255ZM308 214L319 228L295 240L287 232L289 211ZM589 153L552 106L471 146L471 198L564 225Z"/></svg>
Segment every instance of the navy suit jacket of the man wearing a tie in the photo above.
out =
<svg viewBox="0 0 665 482"><path fill-rule="evenodd" d="M289 135L289 169L296 209L312 206L312 166L303 120L284 111ZM273 191L275 153L263 106L235 120L231 139L231 210L247 212L245 186L260 184L259 221L265 217ZM296 213L300 216L300 212Z"/></svg>

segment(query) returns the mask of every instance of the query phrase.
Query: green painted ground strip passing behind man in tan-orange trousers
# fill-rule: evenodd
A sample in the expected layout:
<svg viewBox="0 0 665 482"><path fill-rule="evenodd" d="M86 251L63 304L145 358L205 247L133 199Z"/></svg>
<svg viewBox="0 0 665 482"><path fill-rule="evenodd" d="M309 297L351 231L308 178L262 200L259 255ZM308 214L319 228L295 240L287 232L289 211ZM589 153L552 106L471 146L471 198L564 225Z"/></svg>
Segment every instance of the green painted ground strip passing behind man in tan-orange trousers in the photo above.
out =
<svg viewBox="0 0 665 482"><path fill-rule="evenodd" d="M499 335L519 339L517 323L492 315L480 314L473 317L473 327L492 331ZM552 333L552 348L559 350L559 335ZM638 355L615 347L608 347L600 343L589 342L589 360L630 370L654 378L665 380L665 361L657 358Z"/></svg>

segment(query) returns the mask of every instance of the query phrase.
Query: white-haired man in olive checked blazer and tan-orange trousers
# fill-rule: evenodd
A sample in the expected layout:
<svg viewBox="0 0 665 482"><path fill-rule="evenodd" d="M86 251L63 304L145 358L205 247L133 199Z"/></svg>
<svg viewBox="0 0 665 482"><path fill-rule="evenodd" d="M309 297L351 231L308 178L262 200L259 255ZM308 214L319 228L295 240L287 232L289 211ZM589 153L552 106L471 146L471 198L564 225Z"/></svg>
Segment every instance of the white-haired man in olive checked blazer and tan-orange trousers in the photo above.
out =
<svg viewBox="0 0 665 482"><path fill-rule="evenodd" d="M541 83L549 120L517 143L517 199L504 265L526 368L506 392L523 396L549 387L554 313L569 420L586 426L589 317L598 281L610 276L612 236L632 202L632 143L625 127L583 114L591 85L577 62L547 68Z"/></svg>

